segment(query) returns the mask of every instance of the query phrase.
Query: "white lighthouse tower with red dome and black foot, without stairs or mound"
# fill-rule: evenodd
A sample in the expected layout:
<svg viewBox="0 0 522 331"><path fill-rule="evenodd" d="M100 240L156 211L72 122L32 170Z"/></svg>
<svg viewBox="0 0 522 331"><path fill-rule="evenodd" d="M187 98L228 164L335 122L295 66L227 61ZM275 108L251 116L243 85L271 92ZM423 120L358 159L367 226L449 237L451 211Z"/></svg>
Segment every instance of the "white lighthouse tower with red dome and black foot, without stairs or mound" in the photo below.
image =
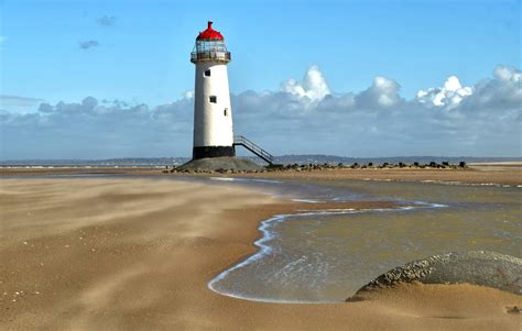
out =
<svg viewBox="0 0 522 331"><path fill-rule="evenodd" d="M196 37L191 62L196 65L193 159L235 156L227 73L230 52L213 22Z"/></svg>

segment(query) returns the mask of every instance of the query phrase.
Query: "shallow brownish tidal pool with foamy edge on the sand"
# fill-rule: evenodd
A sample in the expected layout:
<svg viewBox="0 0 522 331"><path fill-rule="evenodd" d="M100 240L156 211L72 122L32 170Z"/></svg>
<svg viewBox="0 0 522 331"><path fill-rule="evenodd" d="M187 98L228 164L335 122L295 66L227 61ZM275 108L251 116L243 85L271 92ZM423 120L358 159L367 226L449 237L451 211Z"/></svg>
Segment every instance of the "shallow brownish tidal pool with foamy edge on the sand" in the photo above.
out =
<svg viewBox="0 0 522 331"><path fill-rule="evenodd" d="M521 256L522 190L516 187L263 185L304 200L398 200L418 207L274 217L261 227L258 253L209 283L215 291L262 301L338 301L385 271L433 254L489 250Z"/></svg>

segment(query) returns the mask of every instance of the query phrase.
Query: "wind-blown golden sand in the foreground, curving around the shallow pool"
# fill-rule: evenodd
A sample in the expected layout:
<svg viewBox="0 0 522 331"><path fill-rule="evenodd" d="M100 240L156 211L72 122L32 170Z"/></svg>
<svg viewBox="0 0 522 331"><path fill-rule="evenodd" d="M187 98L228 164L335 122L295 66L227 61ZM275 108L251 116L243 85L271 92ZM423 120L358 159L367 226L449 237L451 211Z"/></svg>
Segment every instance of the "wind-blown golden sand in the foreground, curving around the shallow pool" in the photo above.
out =
<svg viewBox="0 0 522 331"><path fill-rule="evenodd" d="M520 328L520 313L507 312L522 306L520 296L471 285L401 285L328 305L254 302L207 288L254 252L260 221L298 208L173 180L2 179L0 329Z"/></svg>

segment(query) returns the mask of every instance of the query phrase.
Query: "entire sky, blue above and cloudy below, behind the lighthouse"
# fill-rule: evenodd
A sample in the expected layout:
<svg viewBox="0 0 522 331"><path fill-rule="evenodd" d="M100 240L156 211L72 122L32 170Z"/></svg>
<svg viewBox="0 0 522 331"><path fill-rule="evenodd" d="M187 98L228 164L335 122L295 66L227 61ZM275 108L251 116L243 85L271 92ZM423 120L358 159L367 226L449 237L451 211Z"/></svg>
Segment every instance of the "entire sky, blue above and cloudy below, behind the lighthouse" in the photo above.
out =
<svg viewBox="0 0 522 331"><path fill-rule="evenodd" d="M0 0L0 158L189 156L208 20L274 155L522 156L520 1Z"/></svg>

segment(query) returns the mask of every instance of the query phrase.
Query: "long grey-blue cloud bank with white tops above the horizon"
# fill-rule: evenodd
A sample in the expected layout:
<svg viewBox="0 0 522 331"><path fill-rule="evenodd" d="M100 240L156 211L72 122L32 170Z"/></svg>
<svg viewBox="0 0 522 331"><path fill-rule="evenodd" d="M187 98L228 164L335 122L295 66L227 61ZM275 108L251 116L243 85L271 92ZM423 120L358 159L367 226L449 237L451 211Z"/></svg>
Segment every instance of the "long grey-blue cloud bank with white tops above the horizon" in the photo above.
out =
<svg viewBox="0 0 522 331"><path fill-rule="evenodd" d="M456 76L406 100L378 76L360 92L335 93L317 66L276 91L232 95L235 132L275 155L521 156L521 71L498 66L463 86ZM3 109L1 158L188 156L193 93L157 107L98 101Z"/></svg>

